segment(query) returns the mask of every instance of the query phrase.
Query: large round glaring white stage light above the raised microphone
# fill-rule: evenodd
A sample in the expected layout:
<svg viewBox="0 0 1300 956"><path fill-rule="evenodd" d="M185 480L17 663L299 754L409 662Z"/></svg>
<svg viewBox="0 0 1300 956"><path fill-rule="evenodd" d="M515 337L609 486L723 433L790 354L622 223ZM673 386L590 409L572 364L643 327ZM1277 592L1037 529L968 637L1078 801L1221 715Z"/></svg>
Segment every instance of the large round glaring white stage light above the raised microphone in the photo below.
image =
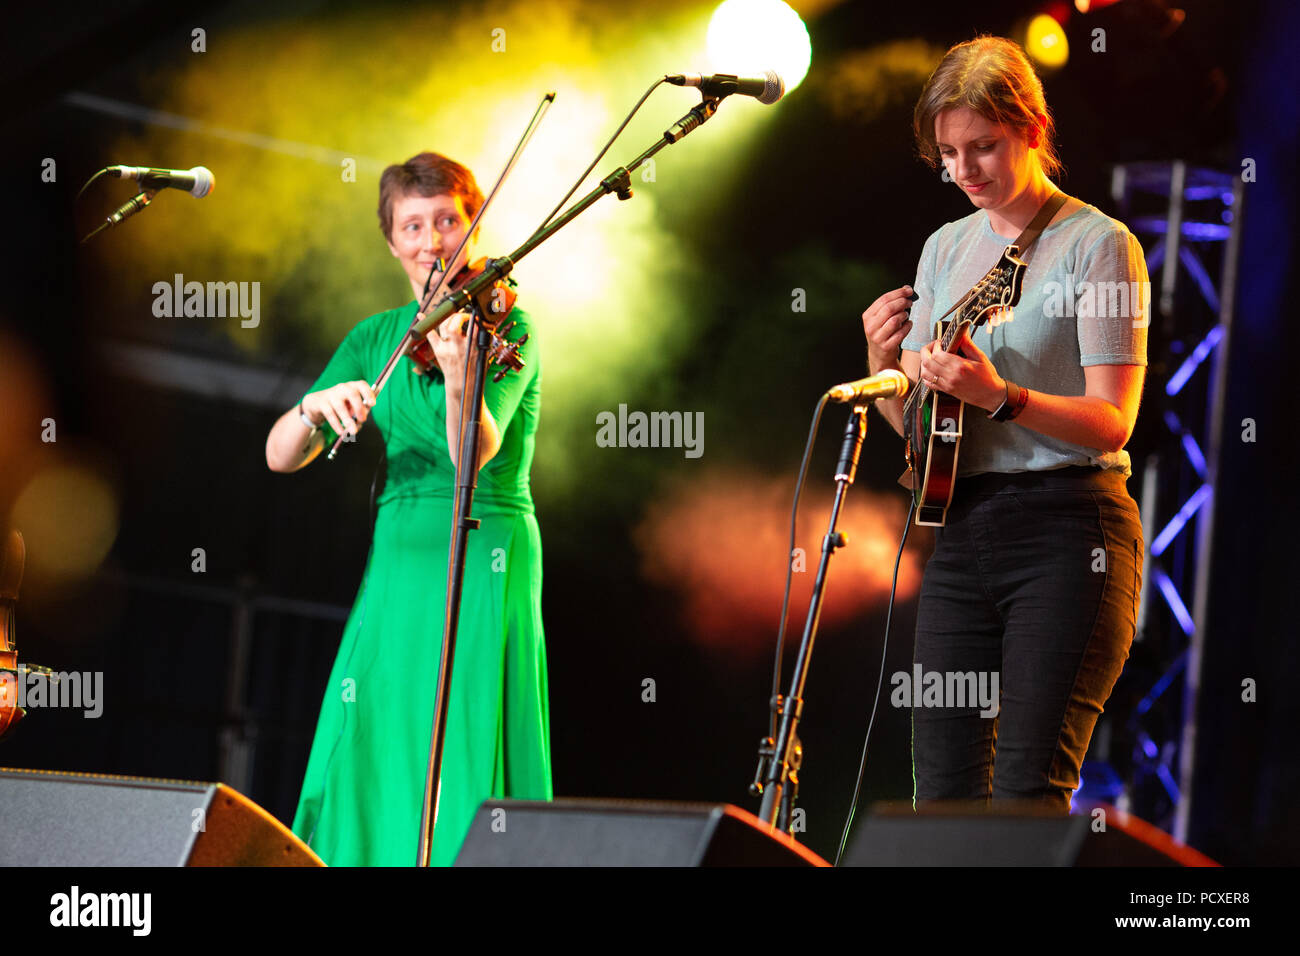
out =
<svg viewBox="0 0 1300 956"><path fill-rule="evenodd" d="M789 94L807 75L812 43L800 14L781 0L727 0L708 22L708 57L719 73L776 70Z"/></svg>

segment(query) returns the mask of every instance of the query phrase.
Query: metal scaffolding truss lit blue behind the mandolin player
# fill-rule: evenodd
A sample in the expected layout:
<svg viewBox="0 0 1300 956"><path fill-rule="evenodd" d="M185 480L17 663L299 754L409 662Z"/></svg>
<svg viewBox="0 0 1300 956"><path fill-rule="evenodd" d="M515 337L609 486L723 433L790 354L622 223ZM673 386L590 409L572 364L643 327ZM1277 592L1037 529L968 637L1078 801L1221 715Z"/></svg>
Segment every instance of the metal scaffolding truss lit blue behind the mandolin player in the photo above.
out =
<svg viewBox="0 0 1300 956"><path fill-rule="evenodd" d="M1149 372L1164 381L1148 377L1145 414L1158 411L1165 429L1140 464L1147 553L1136 637L1162 639L1164 670L1130 717L1134 762L1119 803L1186 840L1244 177L1182 160L1128 163L1113 168L1110 193L1158 290L1148 319L1161 352ZM1216 248L1217 274L1206 265ZM1152 728L1160 710L1165 719ZM1134 805L1152 786L1167 812Z"/></svg>

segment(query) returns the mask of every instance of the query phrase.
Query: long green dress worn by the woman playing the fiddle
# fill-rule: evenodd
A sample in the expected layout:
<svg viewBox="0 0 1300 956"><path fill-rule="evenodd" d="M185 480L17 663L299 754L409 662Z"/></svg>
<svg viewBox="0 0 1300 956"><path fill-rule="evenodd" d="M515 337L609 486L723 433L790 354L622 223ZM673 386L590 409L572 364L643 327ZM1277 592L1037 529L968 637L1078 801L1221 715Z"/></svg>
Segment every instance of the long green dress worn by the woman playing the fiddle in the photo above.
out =
<svg viewBox="0 0 1300 956"><path fill-rule="evenodd" d="M373 382L415 311L412 300L359 323L311 390ZM530 333L526 365L500 382L488 376L502 446L474 493L482 524L468 536L434 865L455 860L481 801L551 799L542 550L528 484L541 369L526 313L510 317L511 338ZM442 376L412 369L403 358L364 425L384 438L387 481L294 817L294 832L332 866L411 866L419 849L455 472Z"/></svg>

